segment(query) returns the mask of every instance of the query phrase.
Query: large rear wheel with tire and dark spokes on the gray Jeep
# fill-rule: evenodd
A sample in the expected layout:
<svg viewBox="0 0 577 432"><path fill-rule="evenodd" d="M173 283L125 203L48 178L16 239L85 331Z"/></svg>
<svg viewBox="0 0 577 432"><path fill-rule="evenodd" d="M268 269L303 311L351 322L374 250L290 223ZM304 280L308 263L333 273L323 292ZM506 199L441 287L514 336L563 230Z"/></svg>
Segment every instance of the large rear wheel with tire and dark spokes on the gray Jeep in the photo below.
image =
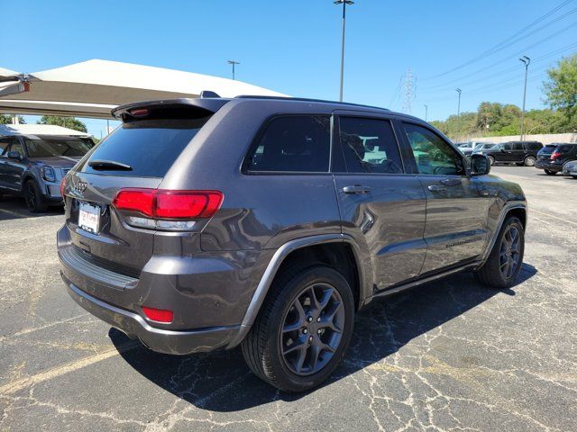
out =
<svg viewBox="0 0 577 432"><path fill-rule="evenodd" d="M314 287L316 297L321 300L332 290L325 313L318 321L320 308L312 307L310 287ZM334 299L341 300L340 306ZM299 309L295 306L297 302ZM283 392L313 389L323 383L343 359L353 334L353 319L353 293L343 275L329 266L290 266L275 278L259 316L243 340L244 360L261 380ZM331 324L327 324L329 321ZM321 329L322 326L325 327ZM340 334L332 328L340 328ZM319 348L317 341L334 352ZM291 346L303 348L287 349ZM318 353L317 361L313 364L315 353Z"/></svg>

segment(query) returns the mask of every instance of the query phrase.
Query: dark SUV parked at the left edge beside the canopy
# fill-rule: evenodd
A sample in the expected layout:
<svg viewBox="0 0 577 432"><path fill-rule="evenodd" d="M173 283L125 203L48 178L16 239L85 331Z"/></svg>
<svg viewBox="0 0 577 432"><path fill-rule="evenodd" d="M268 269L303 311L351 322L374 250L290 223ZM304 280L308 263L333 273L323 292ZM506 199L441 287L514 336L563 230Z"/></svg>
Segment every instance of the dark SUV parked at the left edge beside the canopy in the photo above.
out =
<svg viewBox="0 0 577 432"><path fill-rule="evenodd" d="M0 195L24 197L29 211L62 204L60 182L91 140L56 135L0 136Z"/></svg>

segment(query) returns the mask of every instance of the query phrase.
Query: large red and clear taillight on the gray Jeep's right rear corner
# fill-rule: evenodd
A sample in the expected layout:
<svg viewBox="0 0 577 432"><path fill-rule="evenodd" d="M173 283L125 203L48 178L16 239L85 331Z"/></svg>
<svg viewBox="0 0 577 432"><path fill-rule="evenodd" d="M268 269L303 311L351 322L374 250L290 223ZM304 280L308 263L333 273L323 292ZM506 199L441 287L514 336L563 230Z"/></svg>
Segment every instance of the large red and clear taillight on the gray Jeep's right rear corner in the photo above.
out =
<svg viewBox="0 0 577 432"><path fill-rule="evenodd" d="M223 202L219 191L169 191L163 189L121 189L112 204L120 211L139 213L129 216L129 224L142 228L186 230L195 220L211 218Z"/></svg>

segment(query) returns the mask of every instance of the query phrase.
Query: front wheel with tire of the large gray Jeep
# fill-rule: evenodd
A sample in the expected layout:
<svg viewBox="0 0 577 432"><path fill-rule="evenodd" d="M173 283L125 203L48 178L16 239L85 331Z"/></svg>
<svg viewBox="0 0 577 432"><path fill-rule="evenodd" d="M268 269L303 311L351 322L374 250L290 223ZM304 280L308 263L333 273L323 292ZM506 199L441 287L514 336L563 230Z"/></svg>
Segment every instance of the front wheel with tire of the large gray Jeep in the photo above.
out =
<svg viewBox="0 0 577 432"><path fill-rule="evenodd" d="M512 230L517 231L518 243L516 247L511 247L508 249L504 244L509 243L511 238ZM515 246L515 245L512 245ZM505 251L503 250L505 248ZM513 250L516 249L516 252ZM482 284L491 286L493 288L510 288L515 284L515 279L521 271L521 266L523 265L523 255L525 253L525 229L523 229L523 224L514 216L509 216L504 222L503 226L499 230L499 236L490 251L489 258L485 264L475 272L477 279ZM503 272L503 262L502 257L505 255L507 259L509 258L517 263L510 272Z"/></svg>

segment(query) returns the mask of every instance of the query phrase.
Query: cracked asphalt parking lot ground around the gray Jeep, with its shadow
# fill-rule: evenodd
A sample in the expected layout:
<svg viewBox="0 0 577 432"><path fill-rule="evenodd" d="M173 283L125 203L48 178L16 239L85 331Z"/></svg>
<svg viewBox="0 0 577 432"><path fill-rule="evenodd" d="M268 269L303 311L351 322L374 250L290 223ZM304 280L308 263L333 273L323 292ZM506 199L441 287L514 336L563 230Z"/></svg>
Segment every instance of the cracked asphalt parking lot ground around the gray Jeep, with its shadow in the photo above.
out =
<svg viewBox="0 0 577 432"><path fill-rule="evenodd" d="M504 292L454 275L355 324L320 389L275 391L239 351L163 356L72 302L61 211L0 201L0 430L577 430L577 180L493 174L529 202L525 264Z"/></svg>

